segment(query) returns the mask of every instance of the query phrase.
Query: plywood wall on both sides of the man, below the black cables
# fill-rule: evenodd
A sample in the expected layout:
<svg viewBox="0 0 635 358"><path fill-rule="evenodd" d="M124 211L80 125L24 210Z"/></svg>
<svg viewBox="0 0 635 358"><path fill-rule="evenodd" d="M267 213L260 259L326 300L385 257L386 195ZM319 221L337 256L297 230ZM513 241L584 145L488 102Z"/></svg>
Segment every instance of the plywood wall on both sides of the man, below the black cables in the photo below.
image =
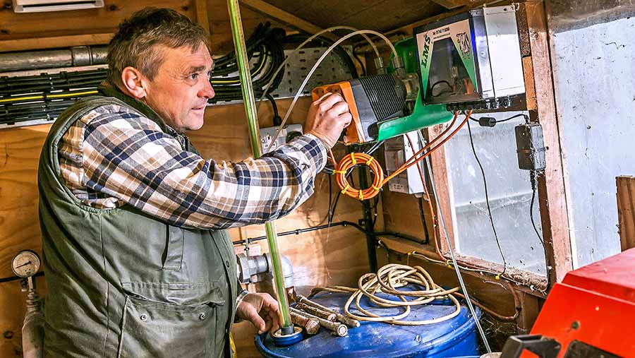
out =
<svg viewBox="0 0 635 358"><path fill-rule="evenodd" d="M290 101L278 102L280 111L284 113ZM303 122L308 104L306 99L298 102L291 117L292 123ZM272 116L268 104L262 106L260 114L261 125L270 126ZM49 126L43 125L0 131L0 277L13 275L9 262L18 251L35 249L40 252L37 162L48 129ZM188 134L205 157L243 160L251 154L246 133L243 105L238 104L210 107L205 126ZM334 191L335 185L333 183ZM283 232L322 225L326 222L327 208L328 179L325 174L319 174L315 181L315 195L288 217L277 220L277 229ZM356 222L361 216L358 201L344 196L340 198L334 221ZM377 225L382 227L381 218ZM243 231L247 237L264 234L262 225L246 227ZM231 230L231 237L241 238L237 229ZM297 290L305 294L315 285L353 285L368 270L365 245L365 236L352 227L332 227L280 238L282 253L291 259L296 270ZM266 241L260 241L260 246L262 252L267 251ZM0 283L0 332L13 332L13 338L0 338L0 357L13 357L14 350L19 347L22 302L16 283ZM253 335L238 332L236 341L241 352L255 354ZM240 357L248 356L241 354Z"/></svg>

